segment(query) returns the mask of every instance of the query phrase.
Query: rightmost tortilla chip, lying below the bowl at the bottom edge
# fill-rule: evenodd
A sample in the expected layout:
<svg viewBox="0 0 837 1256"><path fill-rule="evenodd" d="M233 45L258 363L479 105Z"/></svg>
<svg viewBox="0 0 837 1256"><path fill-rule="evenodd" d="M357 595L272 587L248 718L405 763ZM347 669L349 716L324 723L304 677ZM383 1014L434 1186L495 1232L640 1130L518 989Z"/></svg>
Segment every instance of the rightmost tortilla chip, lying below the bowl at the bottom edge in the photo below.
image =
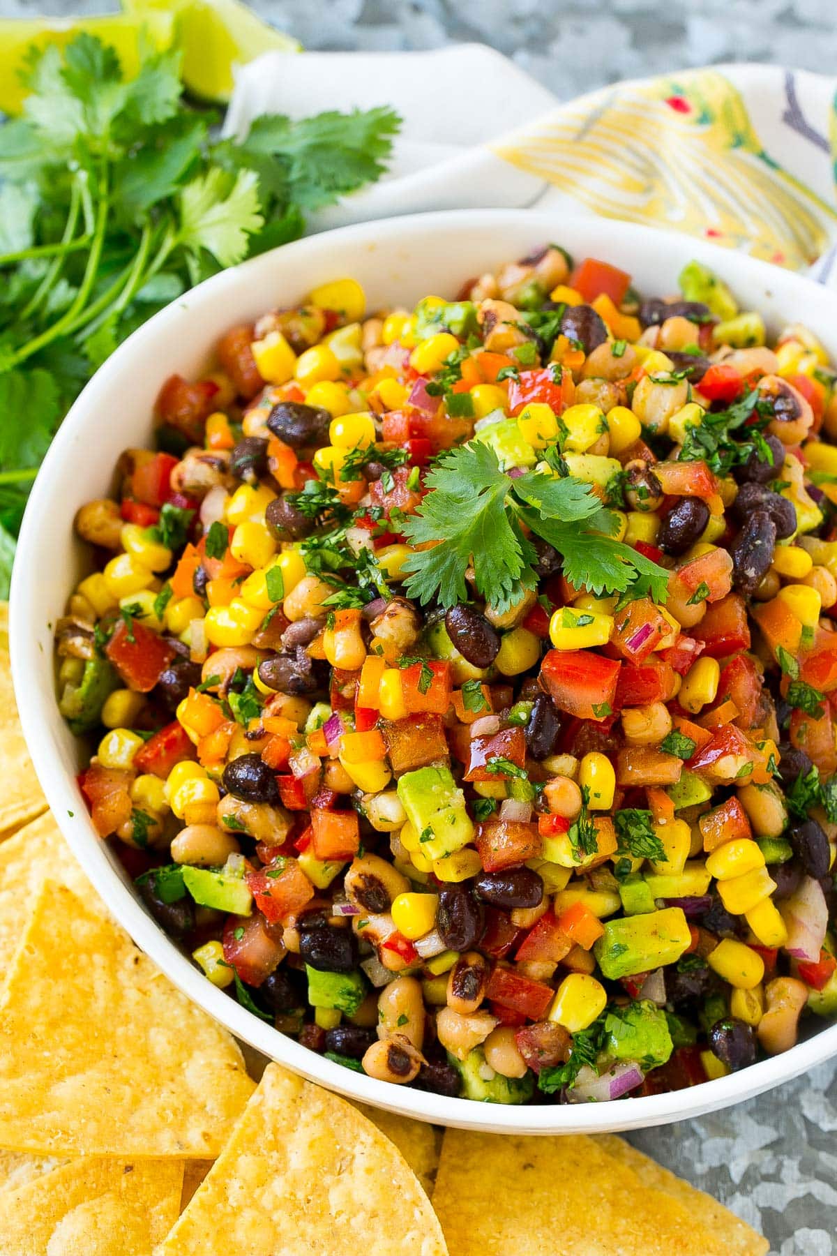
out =
<svg viewBox="0 0 837 1256"><path fill-rule="evenodd" d="M591 1138L448 1129L433 1192L450 1256L729 1256Z"/></svg>

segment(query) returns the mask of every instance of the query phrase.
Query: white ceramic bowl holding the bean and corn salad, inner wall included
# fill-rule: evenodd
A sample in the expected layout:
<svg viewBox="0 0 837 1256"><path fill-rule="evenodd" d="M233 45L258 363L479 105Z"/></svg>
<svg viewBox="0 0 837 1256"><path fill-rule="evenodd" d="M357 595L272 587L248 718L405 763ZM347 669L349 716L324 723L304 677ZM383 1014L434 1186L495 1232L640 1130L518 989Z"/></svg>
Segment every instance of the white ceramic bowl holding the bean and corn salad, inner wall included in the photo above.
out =
<svg viewBox="0 0 837 1256"><path fill-rule="evenodd" d="M375 1081L300 1046L245 1011L193 967L146 912L119 864L95 834L75 782L80 746L61 720L53 681L53 625L85 563L73 535L75 510L108 492L117 458L152 436L154 398L173 372L198 374L221 334L316 284L351 275L369 309L412 305L427 293L453 295L468 276L556 240L629 270L640 291L676 290L690 257L713 266L744 308L776 332L802 322L837 358L837 299L807 279L683 235L604 219L563 220L526 211L454 211L390 219L286 245L227 270L179 298L136 332L73 406L35 481L14 569L11 658L31 756L53 813L90 880L134 941L196 1004L237 1037L351 1098L409 1117L469 1129L568 1133L635 1129L695 1117L755 1095L837 1054L837 1025L784 1055L688 1090L577 1107L502 1107L445 1099ZM92 1032L94 1032L92 1026Z"/></svg>

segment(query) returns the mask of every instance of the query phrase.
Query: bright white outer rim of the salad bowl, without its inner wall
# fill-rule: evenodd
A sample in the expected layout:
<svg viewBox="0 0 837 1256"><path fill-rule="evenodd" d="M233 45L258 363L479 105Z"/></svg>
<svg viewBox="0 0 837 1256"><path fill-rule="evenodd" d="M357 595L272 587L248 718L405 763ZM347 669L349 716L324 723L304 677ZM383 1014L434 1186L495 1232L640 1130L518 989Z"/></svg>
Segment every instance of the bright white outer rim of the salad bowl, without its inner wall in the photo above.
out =
<svg viewBox="0 0 837 1256"><path fill-rule="evenodd" d="M63 727L63 720L54 697L51 668L44 668L44 656L31 631L35 614L33 599L38 584L38 554L40 546L48 544L50 530L55 526L54 521L46 522L46 520L51 520L54 504L56 500L60 501L64 463L78 457L74 445L79 435L95 425L97 403L103 391L125 367L131 367L134 357L142 358L147 342L151 344L167 329L174 329L184 310L192 311L211 301L223 300L225 293L238 290L247 283L247 278L266 265L266 260L274 257L276 252L281 251L284 257L296 261L305 260L306 256L315 259L328 249L338 249L345 255L351 249L368 246L371 242L409 244L413 235L428 231L456 236L474 226L489 227L496 230L502 242L503 231L517 231L521 226L531 229L535 240L550 239L556 231L571 235L575 230L590 235L596 225L602 231L601 252L605 256L614 254L617 257L619 255L624 257L626 254L630 256L631 244L653 244L661 255L679 255L684 261L689 257L705 260L720 274L732 278L733 284L737 273L749 274L755 281L767 285L768 293L778 290L779 294L792 294L802 289L807 300L819 305L823 311L831 306L831 317L837 310L837 298L807 276L779 270L748 255L705 244L675 231L610 219L565 216L557 211L440 210L361 222L307 236L281 246L281 250L272 250L230 268L191 289L138 328L99 368L72 406L44 458L30 494L13 571L9 636L13 678L24 735L55 820L114 918L187 997L225 1025L236 1037L266 1056L279 1060L307 1080L348 1098L442 1125L518 1134L592 1133L646 1128L701 1115L760 1094L837 1055L837 1024L823 1024L823 1029L817 1034L782 1055L685 1090L619 1103L578 1105L517 1107L449 1099L430 1091L378 1081L301 1046L295 1039L259 1020L206 980L134 898L107 857L104 843L95 835L87 809L79 808L78 785L60 761L54 736L54 731ZM350 271L350 266L346 269Z"/></svg>

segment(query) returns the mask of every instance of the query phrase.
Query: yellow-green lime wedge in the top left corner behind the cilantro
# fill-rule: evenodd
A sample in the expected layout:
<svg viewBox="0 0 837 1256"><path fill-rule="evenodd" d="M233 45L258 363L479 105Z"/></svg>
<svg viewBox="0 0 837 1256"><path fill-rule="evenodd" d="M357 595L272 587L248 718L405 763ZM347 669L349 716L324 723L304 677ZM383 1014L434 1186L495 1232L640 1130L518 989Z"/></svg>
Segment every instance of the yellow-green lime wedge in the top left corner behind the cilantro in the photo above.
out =
<svg viewBox="0 0 837 1256"><path fill-rule="evenodd" d="M129 14L102 18L5 18L0 19L0 111L19 113L26 89L19 70L29 48L63 48L82 31L110 44L119 57L125 78L139 69L139 33L157 48L168 48L174 38L174 18L166 8L149 11L143 20Z"/></svg>

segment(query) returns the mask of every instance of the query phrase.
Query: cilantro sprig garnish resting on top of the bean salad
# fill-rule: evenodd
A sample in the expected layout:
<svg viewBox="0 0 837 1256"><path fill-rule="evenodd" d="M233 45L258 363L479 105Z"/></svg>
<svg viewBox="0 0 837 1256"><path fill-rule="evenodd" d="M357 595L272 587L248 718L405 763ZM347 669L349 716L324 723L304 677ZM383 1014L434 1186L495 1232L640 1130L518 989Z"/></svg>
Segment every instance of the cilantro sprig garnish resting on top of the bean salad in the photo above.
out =
<svg viewBox="0 0 837 1256"><path fill-rule="evenodd" d="M553 545L563 574L595 594L627 593L665 602L668 573L612 539L616 517L572 476L526 471L516 480L499 468L488 446L472 441L443 455L425 476L430 492L403 526L414 545L404 564L410 597L444 608L467 599L466 569L501 614L537 585L537 554L527 533ZM641 587L641 592L640 592Z"/></svg>

